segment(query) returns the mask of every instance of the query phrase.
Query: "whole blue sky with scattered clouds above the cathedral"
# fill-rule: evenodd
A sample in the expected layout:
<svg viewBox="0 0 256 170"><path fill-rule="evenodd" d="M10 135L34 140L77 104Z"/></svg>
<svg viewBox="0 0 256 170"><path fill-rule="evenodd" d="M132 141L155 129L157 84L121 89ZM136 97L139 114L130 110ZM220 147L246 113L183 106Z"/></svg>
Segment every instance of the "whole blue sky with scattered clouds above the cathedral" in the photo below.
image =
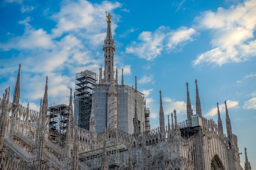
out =
<svg viewBox="0 0 256 170"><path fill-rule="evenodd" d="M227 100L241 165L247 147L256 160L256 0L0 2L0 92L11 86L21 63L20 103L39 110L45 77L49 104L68 104L75 73L104 63L106 13L112 15L115 65L124 83L146 95L150 124L159 126L159 90L165 120L174 109L186 119L186 82L195 110L198 81L202 115L225 129ZM256 163L251 161L252 169Z"/></svg>

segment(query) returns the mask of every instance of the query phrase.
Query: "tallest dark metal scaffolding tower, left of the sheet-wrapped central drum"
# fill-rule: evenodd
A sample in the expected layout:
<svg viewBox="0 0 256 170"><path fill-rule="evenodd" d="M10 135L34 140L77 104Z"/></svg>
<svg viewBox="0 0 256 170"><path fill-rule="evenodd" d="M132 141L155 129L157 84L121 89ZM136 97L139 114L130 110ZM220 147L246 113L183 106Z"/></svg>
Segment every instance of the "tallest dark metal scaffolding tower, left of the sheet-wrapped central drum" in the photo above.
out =
<svg viewBox="0 0 256 170"><path fill-rule="evenodd" d="M92 88L94 88L93 86L97 84L97 79L98 74L90 70L76 73L74 118L79 116L78 126L87 130L89 130L92 107Z"/></svg>

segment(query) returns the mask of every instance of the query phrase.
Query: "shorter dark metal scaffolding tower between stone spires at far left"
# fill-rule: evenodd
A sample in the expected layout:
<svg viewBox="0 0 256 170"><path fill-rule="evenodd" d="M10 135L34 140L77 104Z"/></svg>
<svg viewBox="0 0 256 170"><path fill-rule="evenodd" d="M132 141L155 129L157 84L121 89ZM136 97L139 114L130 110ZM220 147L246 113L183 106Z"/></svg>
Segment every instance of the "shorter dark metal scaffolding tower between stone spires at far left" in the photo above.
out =
<svg viewBox="0 0 256 170"><path fill-rule="evenodd" d="M48 108L50 118L49 139L52 140L52 142L59 143L60 146L65 145L69 109L69 106L65 104L52 104Z"/></svg>

